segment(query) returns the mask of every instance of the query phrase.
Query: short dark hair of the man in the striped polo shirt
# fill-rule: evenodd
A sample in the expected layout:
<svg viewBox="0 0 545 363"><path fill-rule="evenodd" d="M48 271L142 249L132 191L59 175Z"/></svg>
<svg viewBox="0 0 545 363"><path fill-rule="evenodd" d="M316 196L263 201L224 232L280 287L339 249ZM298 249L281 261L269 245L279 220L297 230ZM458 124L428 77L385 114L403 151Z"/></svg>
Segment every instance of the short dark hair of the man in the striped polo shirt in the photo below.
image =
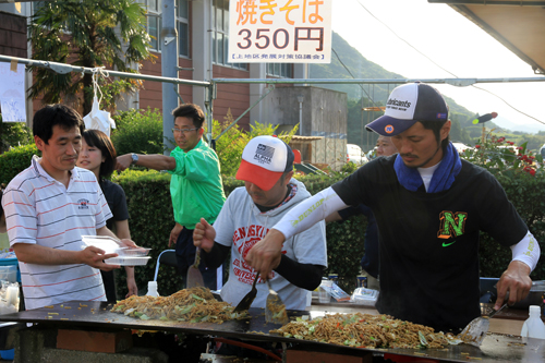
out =
<svg viewBox="0 0 545 363"><path fill-rule="evenodd" d="M49 145L49 138L53 135L56 125L64 131L77 128L82 134L85 130L81 114L73 108L64 105L47 105L34 114L33 134Z"/></svg>

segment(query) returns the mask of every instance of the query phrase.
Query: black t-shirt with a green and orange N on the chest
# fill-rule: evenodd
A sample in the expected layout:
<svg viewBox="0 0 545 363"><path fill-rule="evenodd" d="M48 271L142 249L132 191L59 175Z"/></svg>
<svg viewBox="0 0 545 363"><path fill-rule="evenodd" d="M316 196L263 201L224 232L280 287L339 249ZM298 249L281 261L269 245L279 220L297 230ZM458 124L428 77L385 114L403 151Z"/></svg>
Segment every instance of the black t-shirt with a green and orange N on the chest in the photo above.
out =
<svg viewBox="0 0 545 363"><path fill-rule="evenodd" d="M396 157L367 162L332 189L346 204L363 203L375 214L378 311L436 330L458 330L480 316L479 232L510 246L528 227L486 170L462 160L449 190L410 192L398 182Z"/></svg>

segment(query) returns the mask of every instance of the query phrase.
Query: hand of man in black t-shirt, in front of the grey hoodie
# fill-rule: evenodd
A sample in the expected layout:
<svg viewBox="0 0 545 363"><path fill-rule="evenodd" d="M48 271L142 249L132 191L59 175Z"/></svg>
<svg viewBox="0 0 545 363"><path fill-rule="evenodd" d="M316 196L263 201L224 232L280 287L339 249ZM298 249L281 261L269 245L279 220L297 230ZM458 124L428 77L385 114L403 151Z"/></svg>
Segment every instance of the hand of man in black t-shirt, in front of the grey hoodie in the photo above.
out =
<svg viewBox="0 0 545 363"><path fill-rule="evenodd" d="M272 228L263 240L250 250L245 258L246 263L262 276L271 278L271 271L280 265L284 240L283 234Z"/></svg>

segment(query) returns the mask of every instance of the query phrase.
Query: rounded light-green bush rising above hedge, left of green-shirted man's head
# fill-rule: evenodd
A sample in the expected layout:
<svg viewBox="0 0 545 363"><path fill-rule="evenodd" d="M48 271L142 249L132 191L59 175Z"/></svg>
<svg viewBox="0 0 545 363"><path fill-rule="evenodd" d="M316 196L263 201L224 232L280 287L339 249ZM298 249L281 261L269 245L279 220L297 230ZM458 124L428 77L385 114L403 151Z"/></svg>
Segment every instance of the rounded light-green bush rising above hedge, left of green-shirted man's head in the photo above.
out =
<svg viewBox="0 0 545 363"><path fill-rule="evenodd" d="M162 154L162 116L157 109L118 112L113 120L116 129L111 132L111 141L118 155Z"/></svg>

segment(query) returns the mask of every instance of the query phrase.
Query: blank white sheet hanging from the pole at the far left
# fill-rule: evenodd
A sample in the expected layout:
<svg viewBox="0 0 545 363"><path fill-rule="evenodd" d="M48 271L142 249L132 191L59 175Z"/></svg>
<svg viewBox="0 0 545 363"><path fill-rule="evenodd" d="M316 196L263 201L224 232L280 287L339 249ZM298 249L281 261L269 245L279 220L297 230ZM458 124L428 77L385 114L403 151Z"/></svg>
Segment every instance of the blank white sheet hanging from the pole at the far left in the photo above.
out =
<svg viewBox="0 0 545 363"><path fill-rule="evenodd" d="M26 122L25 65L0 62L0 107L3 122ZM15 64L13 64L15 70Z"/></svg>

